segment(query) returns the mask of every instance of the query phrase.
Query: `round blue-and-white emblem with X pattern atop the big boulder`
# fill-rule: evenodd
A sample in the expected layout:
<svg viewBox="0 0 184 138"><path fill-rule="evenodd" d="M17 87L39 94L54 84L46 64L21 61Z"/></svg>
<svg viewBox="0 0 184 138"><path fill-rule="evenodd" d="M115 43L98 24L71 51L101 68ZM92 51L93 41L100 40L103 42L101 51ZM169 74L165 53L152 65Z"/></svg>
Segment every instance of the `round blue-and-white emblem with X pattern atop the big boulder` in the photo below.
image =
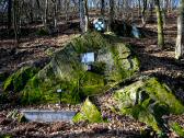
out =
<svg viewBox="0 0 184 138"><path fill-rule="evenodd" d="M93 21L93 26L96 31L104 32L105 31L105 21L103 19L95 19Z"/></svg>

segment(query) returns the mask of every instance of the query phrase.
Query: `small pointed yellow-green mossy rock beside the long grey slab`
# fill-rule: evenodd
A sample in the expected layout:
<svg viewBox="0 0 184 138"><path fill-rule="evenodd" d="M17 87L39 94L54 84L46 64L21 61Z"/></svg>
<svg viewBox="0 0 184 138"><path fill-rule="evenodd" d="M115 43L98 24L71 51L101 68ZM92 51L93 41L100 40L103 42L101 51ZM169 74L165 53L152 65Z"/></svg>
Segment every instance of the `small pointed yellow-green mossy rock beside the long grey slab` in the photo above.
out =
<svg viewBox="0 0 184 138"><path fill-rule="evenodd" d="M89 123L102 123L103 118L101 113L99 112L97 107L91 103L89 99L85 100L83 103L81 111L73 116L72 122L84 122L88 120Z"/></svg>

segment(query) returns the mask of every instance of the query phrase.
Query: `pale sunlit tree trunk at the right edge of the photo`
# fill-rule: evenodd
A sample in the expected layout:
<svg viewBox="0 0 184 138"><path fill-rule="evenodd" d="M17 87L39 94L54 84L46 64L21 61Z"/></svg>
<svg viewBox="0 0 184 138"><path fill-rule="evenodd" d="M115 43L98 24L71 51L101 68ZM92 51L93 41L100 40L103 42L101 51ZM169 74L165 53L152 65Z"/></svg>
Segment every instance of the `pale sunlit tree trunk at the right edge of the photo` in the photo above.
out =
<svg viewBox="0 0 184 138"><path fill-rule="evenodd" d="M177 16L177 37L175 45L175 58L182 58L184 54L184 0L181 0L180 11Z"/></svg>

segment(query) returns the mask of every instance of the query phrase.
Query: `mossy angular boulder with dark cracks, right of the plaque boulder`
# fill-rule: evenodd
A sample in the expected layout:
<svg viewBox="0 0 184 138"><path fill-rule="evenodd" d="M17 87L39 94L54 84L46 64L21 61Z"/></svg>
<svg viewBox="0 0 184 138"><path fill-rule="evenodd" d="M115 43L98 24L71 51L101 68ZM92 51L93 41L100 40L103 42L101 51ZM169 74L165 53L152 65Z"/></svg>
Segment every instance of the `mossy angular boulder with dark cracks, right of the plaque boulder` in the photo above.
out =
<svg viewBox="0 0 184 138"><path fill-rule="evenodd" d="M163 127L163 115L184 113L182 103L157 78L142 79L125 87L115 92L114 99L122 114L147 123L157 131Z"/></svg>

